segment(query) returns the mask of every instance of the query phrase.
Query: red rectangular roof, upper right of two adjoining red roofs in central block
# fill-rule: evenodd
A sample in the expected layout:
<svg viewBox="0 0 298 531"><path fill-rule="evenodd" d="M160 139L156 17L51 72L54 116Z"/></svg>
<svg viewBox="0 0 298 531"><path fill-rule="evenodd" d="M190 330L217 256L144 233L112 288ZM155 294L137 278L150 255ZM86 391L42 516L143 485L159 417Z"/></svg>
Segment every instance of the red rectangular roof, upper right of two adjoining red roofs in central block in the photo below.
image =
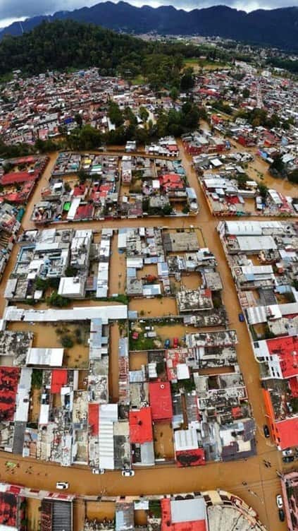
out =
<svg viewBox="0 0 298 531"><path fill-rule="evenodd" d="M154 421L171 421L173 417L172 395L169 382L149 383L149 398L152 419Z"/></svg>

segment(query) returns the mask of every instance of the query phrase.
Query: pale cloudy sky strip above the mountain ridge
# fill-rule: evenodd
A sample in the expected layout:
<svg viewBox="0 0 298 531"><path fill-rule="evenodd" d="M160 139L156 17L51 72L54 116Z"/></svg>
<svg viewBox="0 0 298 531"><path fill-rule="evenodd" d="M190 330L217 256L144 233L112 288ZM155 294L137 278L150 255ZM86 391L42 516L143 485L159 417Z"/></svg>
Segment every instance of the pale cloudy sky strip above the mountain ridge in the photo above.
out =
<svg viewBox="0 0 298 531"><path fill-rule="evenodd" d="M92 6L100 0L0 0L0 27L10 24L13 20L24 20L27 17L54 13L55 11L72 10L82 6ZM130 0L130 4L168 6L177 8L203 8L216 4L252 11L253 9L298 6L298 0Z"/></svg>

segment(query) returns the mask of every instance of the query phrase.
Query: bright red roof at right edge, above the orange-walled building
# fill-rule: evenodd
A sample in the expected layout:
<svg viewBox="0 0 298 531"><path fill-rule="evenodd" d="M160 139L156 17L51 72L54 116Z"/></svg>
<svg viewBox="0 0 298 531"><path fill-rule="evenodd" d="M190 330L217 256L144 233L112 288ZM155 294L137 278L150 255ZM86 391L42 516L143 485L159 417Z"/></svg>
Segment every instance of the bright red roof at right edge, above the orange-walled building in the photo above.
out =
<svg viewBox="0 0 298 531"><path fill-rule="evenodd" d="M267 340L267 347L271 354L278 355L280 370L284 378L298 376L298 338L297 336L284 336Z"/></svg>

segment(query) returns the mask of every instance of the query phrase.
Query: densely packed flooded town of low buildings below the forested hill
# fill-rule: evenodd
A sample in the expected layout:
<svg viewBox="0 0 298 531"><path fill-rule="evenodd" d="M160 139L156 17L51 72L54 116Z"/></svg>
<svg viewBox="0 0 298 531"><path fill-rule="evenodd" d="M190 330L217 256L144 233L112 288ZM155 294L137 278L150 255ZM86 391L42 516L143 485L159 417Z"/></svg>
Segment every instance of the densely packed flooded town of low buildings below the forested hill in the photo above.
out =
<svg viewBox="0 0 298 531"><path fill-rule="evenodd" d="M298 529L297 80L196 66L1 85L1 531Z"/></svg>

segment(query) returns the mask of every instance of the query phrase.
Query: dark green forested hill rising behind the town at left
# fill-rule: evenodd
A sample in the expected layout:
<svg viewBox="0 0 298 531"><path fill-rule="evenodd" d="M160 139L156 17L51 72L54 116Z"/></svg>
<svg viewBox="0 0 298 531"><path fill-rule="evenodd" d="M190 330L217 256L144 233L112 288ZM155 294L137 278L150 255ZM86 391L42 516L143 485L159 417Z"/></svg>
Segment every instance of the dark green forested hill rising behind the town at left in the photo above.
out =
<svg viewBox="0 0 298 531"><path fill-rule="evenodd" d="M154 89L187 90L192 72L180 72L187 57L199 57L201 47L182 43L145 42L93 24L74 20L42 22L21 37L5 35L0 43L0 76L19 68L35 75L66 68L96 66L103 76L142 75ZM181 78L181 79L180 79ZM79 124L80 125L80 124Z"/></svg>

